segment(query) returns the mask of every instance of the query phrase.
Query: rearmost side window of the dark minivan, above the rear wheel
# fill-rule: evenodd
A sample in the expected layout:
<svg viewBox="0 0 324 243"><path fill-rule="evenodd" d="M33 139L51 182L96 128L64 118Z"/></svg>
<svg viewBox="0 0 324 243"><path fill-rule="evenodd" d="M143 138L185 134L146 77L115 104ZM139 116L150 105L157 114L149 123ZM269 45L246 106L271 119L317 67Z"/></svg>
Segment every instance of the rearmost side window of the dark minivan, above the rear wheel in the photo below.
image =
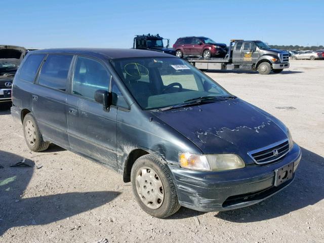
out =
<svg viewBox="0 0 324 243"><path fill-rule="evenodd" d="M27 57L26 61L24 62L23 66L21 67L19 78L33 83L38 67L41 65L45 54L31 54Z"/></svg>

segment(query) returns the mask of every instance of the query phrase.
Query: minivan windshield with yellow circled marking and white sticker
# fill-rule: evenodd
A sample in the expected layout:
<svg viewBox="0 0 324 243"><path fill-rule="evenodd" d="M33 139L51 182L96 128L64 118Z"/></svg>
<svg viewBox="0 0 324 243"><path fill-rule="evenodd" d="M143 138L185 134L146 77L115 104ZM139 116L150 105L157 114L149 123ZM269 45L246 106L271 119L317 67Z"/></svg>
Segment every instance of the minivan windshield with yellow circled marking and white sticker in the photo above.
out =
<svg viewBox="0 0 324 243"><path fill-rule="evenodd" d="M180 58L128 58L111 63L144 110L175 106L199 97L230 97L213 79Z"/></svg>

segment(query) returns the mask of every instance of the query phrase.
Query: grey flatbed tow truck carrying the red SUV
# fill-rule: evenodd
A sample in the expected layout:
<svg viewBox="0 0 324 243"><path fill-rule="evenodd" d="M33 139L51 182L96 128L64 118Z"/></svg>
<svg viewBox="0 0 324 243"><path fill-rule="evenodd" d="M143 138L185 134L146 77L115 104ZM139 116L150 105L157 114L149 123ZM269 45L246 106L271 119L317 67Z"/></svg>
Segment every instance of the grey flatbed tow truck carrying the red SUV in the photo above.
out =
<svg viewBox="0 0 324 243"><path fill-rule="evenodd" d="M244 41L232 39L224 58L190 58L185 59L202 70L253 70L260 74L281 72L289 68L289 53L271 49L261 41Z"/></svg>

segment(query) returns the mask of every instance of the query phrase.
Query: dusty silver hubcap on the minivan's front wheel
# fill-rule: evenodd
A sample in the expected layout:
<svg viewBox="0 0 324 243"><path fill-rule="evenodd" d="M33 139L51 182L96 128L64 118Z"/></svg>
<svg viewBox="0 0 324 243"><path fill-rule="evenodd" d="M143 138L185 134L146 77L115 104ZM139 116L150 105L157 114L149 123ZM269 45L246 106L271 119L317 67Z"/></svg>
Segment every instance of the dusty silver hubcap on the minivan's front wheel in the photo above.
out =
<svg viewBox="0 0 324 243"><path fill-rule="evenodd" d="M161 207L164 199L163 184L157 173L142 167L136 174L136 191L145 206L150 209Z"/></svg>

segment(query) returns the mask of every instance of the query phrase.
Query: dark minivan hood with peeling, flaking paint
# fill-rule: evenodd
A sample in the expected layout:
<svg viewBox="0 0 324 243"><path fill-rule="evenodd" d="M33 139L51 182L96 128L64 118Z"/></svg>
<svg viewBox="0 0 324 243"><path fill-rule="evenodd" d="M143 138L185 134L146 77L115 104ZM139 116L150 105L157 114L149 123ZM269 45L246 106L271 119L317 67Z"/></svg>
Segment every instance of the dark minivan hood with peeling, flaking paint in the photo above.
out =
<svg viewBox="0 0 324 243"><path fill-rule="evenodd" d="M287 138L285 125L238 98L153 113L203 153L236 153L248 159L248 151Z"/></svg>

